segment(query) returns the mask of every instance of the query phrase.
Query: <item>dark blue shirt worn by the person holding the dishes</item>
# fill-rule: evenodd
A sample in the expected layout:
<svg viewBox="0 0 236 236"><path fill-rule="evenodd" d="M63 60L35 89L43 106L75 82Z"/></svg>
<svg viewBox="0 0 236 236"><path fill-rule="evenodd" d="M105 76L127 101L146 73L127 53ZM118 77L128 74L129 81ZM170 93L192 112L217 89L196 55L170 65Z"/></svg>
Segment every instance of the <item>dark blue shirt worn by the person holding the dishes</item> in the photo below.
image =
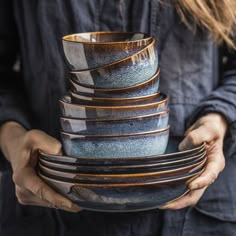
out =
<svg viewBox="0 0 236 236"><path fill-rule="evenodd" d="M195 208L220 220L236 221L236 56L223 47L218 50L203 30L193 34L169 5L161 6L156 0L1 0L0 123L14 120L27 129L41 129L60 138L58 99L66 92L69 78L61 38L101 30L142 31L158 39L161 90L170 96L172 134L183 135L206 113L225 116L231 132L225 142L226 169ZM16 58L21 73L12 69ZM155 235L158 231L159 224L154 222L163 214L160 211L117 215L83 211L75 216L20 206L11 173L4 173L1 235L16 235L16 230L30 235L33 226L43 226L37 235L70 235L77 227L82 235L132 235L138 231L148 235L145 232L151 229ZM96 230L91 228L95 223Z"/></svg>

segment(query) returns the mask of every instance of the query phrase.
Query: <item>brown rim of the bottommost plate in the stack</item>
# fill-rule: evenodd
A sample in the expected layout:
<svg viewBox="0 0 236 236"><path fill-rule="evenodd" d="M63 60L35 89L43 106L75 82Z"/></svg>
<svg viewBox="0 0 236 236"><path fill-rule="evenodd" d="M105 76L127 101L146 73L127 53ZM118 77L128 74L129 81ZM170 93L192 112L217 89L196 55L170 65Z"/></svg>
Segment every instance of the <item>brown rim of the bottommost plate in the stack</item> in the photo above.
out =
<svg viewBox="0 0 236 236"><path fill-rule="evenodd" d="M159 180L159 181L153 181L153 182L147 182L147 183L124 183L124 184L81 184L81 183L71 183L71 182L66 182L66 181L61 181L61 180L55 180L52 178L49 178L45 175L43 175L40 171L38 171L38 174L40 177L48 179L49 181L53 181L59 184L66 184L66 185L72 185L72 187L78 186L78 187L103 187L103 188L113 188L113 187L125 187L125 188L129 188L129 187L141 187L141 186L150 186L150 185L160 185L160 184L167 184L167 183L176 183L179 181L183 181L183 180L187 180L189 181L190 179L192 180L193 178L196 178L197 176L199 176L201 173L203 173L204 168L200 168L200 170L198 172L192 173L192 174L188 174L186 176L182 176L182 177L173 177L173 178L169 178L169 179L165 179L165 180Z"/></svg>

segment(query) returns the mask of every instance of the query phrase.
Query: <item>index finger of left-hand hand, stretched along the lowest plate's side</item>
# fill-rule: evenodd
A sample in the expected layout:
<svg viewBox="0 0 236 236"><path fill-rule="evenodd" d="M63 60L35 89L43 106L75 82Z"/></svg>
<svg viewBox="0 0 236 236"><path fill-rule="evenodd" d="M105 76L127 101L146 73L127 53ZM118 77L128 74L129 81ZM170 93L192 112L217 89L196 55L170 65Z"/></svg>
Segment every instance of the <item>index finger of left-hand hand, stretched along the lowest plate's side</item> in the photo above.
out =
<svg viewBox="0 0 236 236"><path fill-rule="evenodd" d="M56 193L45 182L43 182L35 173L32 168L25 168L24 175L21 176L21 180L18 185L24 186L31 191L38 198L49 202L53 206L60 209L71 209L73 211L79 211L80 208L73 204L69 199Z"/></svg>

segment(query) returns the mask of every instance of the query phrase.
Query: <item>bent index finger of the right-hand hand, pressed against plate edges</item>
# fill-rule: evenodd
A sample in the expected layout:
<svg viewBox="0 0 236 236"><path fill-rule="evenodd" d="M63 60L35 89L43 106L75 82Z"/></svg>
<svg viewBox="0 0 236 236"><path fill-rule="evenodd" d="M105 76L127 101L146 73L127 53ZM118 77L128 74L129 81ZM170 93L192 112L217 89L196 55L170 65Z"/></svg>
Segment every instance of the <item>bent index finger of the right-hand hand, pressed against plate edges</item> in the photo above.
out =
<svg viewBox="0 0 236 236"><path fill-rule="evenodd" d="M208 162L204 172L195 180L189 184L191 190L207 187L214 183L219 173L224 169L225 160L223 154L219 154L222 157L208 158Z"/></svg>

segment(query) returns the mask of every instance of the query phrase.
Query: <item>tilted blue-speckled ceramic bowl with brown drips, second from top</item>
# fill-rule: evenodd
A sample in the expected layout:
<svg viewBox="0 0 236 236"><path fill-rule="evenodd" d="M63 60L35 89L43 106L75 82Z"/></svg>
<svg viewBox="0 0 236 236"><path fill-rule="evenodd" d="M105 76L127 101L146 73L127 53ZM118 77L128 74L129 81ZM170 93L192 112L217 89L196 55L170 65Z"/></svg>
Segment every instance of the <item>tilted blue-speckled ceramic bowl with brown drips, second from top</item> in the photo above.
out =
<svg viewBox="0 0 236 236"><path fill-rule="evenodd" d="M125 88L141 84L152 78L158 68L155 40L144 49L103 67L71 71L76 83L92 88Z"/></svg>

